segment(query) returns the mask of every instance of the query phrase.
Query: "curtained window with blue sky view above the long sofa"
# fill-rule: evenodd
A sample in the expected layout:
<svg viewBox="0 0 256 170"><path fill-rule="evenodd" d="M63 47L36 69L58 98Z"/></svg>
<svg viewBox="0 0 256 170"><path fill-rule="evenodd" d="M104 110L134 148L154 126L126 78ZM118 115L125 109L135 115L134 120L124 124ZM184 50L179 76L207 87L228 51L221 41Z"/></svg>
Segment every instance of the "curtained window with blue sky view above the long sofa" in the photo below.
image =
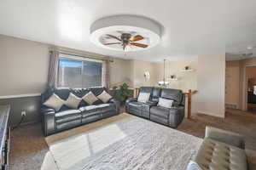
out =
<svg viewBox="0 0 256 170"><path fill-rule="evenodd" d="M89 88L102 86L102 60L61 54L58 87Z"/></svg>

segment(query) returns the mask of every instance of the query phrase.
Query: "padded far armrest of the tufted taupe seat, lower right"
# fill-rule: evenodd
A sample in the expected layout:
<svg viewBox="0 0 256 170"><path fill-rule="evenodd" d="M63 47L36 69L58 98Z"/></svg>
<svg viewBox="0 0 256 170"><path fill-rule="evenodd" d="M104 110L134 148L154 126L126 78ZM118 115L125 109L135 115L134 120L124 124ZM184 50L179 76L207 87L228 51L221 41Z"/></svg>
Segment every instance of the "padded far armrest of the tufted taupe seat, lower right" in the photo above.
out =
<svg viewBox="0 0 256 170"><path fill-rule="evenodd" d="M243 136L238 133L232 133L216 127L206 127L205 138L214 139L225 144L230 144L244 149L245 142Z"/></svg>

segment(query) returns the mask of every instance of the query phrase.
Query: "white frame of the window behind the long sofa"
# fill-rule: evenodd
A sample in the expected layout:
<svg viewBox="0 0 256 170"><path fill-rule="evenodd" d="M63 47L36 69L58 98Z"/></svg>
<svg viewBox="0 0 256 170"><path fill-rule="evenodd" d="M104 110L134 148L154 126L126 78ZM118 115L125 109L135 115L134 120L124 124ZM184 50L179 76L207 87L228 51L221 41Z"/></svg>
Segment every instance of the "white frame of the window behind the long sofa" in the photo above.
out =
<svg viewBox="0 0 256 170"><path fill-rule="evenodd" d="M81 76L83 75L84 72L84 61L92 61L92 62L97 62L97 63L102 63L102 70L103 70L103 61L102 59L91 59L90 57L86 58L83 56L79 55L73 55L73 54L59 54L59 59L58 59L58 72L57 72L57 88L70 88L70 87L65 87L65 86L59 86L59 68L60 68L60 59L70 59L74 61L81 61L82 62L82 68L81 68ZM94 86L95 88L101 88L103 87L103 82L101 86ZM81 87L83 88L83 87ZM92 88L92 87L91 87Z"/></svg>

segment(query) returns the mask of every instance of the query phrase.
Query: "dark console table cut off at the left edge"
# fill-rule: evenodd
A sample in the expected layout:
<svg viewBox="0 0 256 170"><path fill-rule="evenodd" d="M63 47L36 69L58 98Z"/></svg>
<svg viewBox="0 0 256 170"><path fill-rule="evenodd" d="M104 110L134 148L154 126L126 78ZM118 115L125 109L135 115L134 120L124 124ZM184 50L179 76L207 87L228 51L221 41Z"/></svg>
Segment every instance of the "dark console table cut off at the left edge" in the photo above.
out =
<svg viewBox="0 0 256 170"><path fill-rule="evenodd" d="M9 169L9 152L10 152L10 129L9 105L0 105L0 169Z"/></svg>

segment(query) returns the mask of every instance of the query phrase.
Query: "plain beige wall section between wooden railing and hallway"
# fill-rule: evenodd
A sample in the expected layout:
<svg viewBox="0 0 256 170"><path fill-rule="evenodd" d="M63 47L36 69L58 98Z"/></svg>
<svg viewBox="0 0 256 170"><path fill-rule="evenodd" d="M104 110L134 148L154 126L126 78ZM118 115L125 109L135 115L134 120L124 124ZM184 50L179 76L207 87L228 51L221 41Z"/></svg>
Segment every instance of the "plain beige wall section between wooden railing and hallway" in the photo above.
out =
<svg viewBox="0 0 256 170"><path fill-rule="evenodd" d="M196 111L224 117L225 54L198 58Z"/></svg>

